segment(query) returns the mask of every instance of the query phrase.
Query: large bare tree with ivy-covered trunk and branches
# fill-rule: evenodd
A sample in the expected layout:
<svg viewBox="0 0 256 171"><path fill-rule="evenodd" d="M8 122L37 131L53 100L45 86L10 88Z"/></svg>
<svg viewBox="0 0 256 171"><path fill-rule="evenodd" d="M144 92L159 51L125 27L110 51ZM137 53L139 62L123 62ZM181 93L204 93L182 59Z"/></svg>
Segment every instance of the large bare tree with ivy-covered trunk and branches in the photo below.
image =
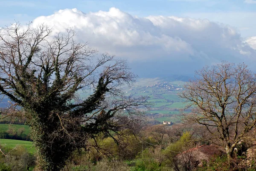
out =
<svg viewBox="0 0 256 171"><path fill-rule="evenodd" d="M72 29L52 36L45 25L22 28L1 29L0 92L25 110L42 170L60 170L99 132L112 136L136 125L134 112L146 99L123 95L122 84L135 78L125 61L96 58L96 50L75 41ZM76 100L88 86L93 93Z"/></svg>

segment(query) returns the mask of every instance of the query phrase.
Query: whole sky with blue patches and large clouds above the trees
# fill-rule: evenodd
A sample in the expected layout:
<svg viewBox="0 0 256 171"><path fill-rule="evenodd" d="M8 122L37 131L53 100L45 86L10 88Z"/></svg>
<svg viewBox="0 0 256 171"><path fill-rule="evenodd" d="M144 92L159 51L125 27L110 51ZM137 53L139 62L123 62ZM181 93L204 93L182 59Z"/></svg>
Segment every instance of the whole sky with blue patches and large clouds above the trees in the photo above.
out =
<svg viewBox="0 0 256 171"><path fill-rule="evenodd" d="M140 77L222 60L256 68L256 0L0 0L0 27L45 23L128 61Z"/></svg>

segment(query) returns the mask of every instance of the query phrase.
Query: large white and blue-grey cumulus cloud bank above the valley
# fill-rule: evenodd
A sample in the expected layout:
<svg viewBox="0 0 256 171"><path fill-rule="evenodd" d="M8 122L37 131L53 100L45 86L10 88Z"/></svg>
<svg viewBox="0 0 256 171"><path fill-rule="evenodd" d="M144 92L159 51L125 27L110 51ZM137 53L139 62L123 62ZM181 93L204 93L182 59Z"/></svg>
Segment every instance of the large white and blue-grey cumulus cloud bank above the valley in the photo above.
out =
<svg viewBox="0 0 256 171"><path fill-rule="evenodd" d="M207 19L137 17L116 8L87 14L64 9L36 18L33 26L40 23L54 33L73 27L79 41L127 59L140 76L193 73L221 60L253 64L256 58L235 28Z"/></svg>

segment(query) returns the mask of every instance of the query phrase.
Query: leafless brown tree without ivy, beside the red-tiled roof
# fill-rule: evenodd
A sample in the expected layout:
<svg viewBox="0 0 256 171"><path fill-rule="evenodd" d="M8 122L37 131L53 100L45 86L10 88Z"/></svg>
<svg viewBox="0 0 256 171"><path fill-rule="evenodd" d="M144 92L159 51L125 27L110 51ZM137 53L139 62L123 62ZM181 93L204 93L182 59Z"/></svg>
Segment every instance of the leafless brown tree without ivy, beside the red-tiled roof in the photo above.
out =
<svg viewBox="0 0 256 171"><path fill-rule="evenodd" d="M226 148L228 159L240 142L253 139L256 125L256 75L245 64L221 62L196 71L180 97L192 113L186 122L204 125Z"/></svg>

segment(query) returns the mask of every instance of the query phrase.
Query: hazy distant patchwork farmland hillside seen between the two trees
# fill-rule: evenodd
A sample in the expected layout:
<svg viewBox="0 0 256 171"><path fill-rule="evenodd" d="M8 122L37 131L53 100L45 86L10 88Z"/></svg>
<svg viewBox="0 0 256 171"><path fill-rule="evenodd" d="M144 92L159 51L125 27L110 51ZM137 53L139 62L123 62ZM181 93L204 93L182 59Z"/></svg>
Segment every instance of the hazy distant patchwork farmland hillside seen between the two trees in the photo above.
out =
<svg viewBox="0 0 256 171"><path fill-rule="evenodd" d="M151 109L145 110L146 116L159 122L180 122L180 109L187 104L180 99L178 93L183 90L188 78L177 77L139 78L131 87L125 87L126 96L148 96Z"/></svg>

